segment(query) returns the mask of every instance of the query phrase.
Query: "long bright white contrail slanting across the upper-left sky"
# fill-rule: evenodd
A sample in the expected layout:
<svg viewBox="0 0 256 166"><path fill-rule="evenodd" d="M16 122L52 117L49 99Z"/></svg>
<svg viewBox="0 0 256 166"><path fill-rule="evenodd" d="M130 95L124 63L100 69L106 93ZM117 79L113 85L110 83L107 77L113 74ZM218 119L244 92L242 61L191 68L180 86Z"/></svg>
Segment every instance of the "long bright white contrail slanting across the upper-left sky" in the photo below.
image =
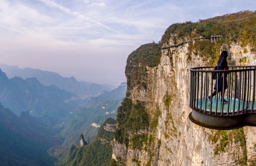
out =
<svg viewBox="0 0 256 166"><path fill-rule="evenodd" d="M46 5L50 6L50 7L57 8L57 9L65 12L67 14L74 15L74 16L77 16L79 18L90 20L90 21L96 23L99 26L102 26L102 27L104 27L104 28L106 28L106 29L108 29L110 31L118 33L116 30L113 30L112 28L110 28L110 27L108 27L108 26L106 26L106 25L104 25L104 24L102 24L102 23L100 23L98 21L92 20L89 17L85 17L84 15L82 15L82 14L76 12L76 11L73 12L70 9L68 9L68 8L66 8L66 7L64 7L64 6L60 5L60 4L57 4L57 3L55 3L55 2L53 2L51 0L37 0L37 1L42 2L42 3L44 3L44 4L46 4Z"/></svg>

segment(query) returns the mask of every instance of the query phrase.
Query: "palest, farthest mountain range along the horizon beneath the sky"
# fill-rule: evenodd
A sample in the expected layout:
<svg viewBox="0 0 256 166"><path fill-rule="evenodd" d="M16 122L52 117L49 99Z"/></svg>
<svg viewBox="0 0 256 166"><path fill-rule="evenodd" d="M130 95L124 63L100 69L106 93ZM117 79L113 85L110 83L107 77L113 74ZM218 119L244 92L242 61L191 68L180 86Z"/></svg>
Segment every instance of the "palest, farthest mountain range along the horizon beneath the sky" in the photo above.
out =
<svg viewBox="0 0 256 166"><path fill-rule="evenodd" d="M37 80L45 86L56 85L60 89L64 89L70 93L79 96L95 96L99 95L102 91L111 91L116 88L113 85L96 84L86 81L77 81L75 77L62 77L58 73L43 71L33 68L19 68L18 66L9 66L0 64L0 68L6 73L8 78L18 76L22 79L36 77Z"/></svg>

